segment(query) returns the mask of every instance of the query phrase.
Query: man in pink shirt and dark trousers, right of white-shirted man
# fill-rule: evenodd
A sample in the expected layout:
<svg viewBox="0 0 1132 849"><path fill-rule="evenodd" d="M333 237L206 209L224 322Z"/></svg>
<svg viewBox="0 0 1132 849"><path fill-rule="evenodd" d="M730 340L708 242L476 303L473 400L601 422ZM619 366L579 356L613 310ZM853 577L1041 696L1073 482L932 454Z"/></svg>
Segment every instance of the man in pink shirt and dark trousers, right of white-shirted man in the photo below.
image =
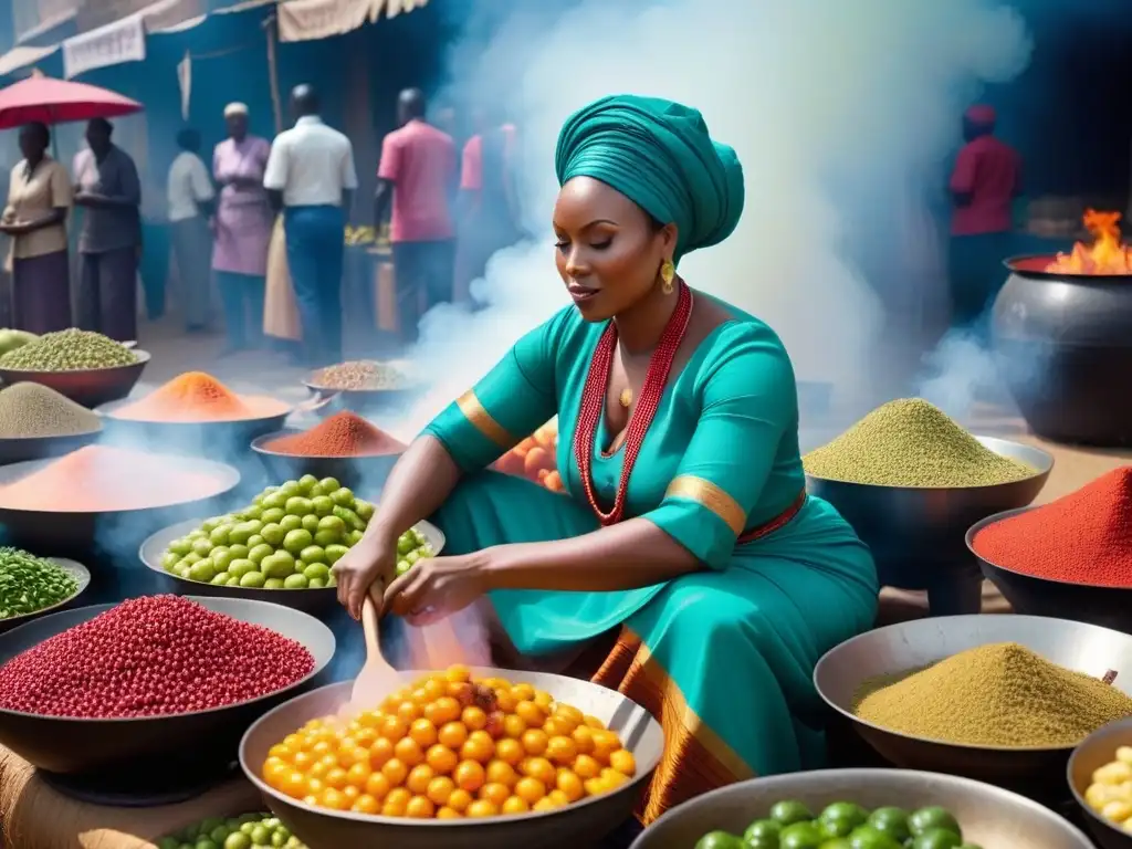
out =
<svg viewBox="0 0 1132 849"><path fill-rule="evenodd" d="M397 98L394 130L381 143L374 221L393 203L389 241L397 282L401 333L414 338L421 316L452 300L455 231L448 198L456 182L452 137L424 121L424 95L409 88Z"/></svg>

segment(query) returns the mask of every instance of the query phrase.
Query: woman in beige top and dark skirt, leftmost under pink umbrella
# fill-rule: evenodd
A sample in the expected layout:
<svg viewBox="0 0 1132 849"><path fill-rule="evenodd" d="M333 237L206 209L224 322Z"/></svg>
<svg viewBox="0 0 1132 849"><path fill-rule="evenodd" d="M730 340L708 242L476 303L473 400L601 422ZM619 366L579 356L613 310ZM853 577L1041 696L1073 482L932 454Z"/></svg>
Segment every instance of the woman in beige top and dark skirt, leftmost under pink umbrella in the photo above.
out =
<svg viewBox="0 0 1132 849"><path fill-rule="evenodd" d="M71 326L67 169L48 155L51 131L42 123L19 131L24 158L11 171L0 231L11 237L12 324L31 333Z"/></svg>

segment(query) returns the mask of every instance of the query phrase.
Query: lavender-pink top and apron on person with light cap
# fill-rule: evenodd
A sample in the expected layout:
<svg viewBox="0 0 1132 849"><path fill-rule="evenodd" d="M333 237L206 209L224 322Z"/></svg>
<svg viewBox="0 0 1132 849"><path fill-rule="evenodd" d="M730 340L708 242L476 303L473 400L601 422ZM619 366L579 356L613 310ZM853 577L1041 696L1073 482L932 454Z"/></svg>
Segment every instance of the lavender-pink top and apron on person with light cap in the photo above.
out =
<svg viewBox="0 0 1132 849"><path fill-rule="evenodd" d="M216 235L213 268L218 272L267 274L267 250L274 215L263 188L264 169L272 146L265 138L246 136L242 142L225 139L213 153L213 177L224 183L233 177L255 180L254 187L225 185L216 205Z"/></svg>

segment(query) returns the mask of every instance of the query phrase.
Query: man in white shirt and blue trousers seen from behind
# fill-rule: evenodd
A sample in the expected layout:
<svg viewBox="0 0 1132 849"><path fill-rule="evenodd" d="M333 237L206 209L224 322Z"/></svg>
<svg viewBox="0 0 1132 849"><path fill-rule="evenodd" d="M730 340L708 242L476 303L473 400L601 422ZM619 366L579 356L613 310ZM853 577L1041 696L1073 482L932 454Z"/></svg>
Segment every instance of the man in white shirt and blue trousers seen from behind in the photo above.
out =
<svg viewBox="0 0 1132 849"><path fill-rule="evenodd" d="M293 129L272 144L264 188L283 213L286 259L311 366L342 360L342 266L345 224L358 189L353 147L319 118L309 85L291 93Z"/></svg>

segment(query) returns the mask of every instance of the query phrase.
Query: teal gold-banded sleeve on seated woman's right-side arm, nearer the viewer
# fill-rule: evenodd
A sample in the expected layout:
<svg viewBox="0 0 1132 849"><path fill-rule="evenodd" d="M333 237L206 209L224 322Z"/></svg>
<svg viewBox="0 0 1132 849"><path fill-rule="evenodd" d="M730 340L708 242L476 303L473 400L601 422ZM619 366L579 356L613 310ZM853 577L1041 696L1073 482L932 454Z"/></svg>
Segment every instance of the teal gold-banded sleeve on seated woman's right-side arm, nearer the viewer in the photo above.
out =
<svg viewBox="0 0 1132 849"><path fill-rule="evenodd" d="M794 367L778 336L749 324L729 336L696 387L700 421L676 475L642 516L717 569L730 561L798 417Z"/></svg>

